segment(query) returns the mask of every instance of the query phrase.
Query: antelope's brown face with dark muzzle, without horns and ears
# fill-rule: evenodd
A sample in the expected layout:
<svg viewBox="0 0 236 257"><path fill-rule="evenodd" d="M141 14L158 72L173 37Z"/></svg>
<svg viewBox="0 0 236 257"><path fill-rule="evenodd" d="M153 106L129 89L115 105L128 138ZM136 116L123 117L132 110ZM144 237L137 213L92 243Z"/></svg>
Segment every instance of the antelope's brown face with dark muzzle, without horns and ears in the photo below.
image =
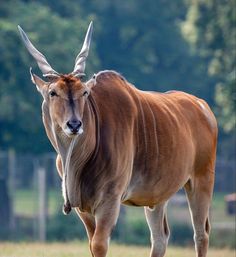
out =
<svg viewBox="0 0 236 257"><path fill-rule="evenodd" d="M68 137L83 133L83 113L88 94L88 88L80 79L71 75L61 76L48 85L45 99L52 122Z"/></svg>

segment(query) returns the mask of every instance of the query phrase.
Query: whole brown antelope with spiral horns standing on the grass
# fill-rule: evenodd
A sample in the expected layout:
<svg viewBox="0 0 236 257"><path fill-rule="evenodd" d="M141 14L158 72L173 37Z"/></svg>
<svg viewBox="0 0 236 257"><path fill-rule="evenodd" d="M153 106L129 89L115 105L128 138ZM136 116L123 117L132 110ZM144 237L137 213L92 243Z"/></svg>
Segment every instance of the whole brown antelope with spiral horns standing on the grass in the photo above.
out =
<svg viewBox="0 0 236 257"><path fill-rule="evenodd" d="M81 81L92 23L70 74L48 64L19 27L46 81L31 73L43 96L43 123L57 152L64 212L83 221L93 257L107 254L120 205L144 206L151 257L165 254L168 199L184 187L197 257L206 257L214 184L216 119L203 100L178 91L138 90L114 71Z"/></svg>

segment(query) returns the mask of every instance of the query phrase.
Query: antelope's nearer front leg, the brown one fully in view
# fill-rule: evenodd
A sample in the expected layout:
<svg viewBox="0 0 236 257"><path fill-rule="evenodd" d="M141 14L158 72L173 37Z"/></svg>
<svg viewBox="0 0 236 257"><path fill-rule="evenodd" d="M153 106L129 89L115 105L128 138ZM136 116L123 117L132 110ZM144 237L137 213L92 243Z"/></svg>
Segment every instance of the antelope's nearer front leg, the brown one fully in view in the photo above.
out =
<svg viewBox="0 0 236 257"><path fill-rule="evenodd" d="M95 213L96 228L91 251L93 257L105 257L112 229L116 225L120 211L120 201L112 200L100 205Z"/></svg>

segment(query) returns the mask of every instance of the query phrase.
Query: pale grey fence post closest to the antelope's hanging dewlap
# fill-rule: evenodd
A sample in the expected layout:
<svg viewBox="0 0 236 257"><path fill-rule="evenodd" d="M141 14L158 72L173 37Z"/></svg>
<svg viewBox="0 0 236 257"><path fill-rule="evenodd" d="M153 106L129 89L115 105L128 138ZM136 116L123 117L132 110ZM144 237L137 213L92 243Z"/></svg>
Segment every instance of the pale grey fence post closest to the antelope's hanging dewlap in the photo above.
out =
<svg viewBox="0 0 236 257"><path fill-rule="evenodd" d="M39 189L39 241L46 241L46 171L38 168L38 189Z"/></svg>

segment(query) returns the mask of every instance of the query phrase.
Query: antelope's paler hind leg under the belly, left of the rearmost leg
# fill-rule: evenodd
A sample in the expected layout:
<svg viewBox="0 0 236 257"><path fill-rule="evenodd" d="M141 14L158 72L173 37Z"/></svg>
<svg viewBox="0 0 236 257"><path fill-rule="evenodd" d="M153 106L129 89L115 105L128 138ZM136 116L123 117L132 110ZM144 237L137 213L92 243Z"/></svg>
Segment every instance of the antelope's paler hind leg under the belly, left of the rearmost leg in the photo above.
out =
<svg viewBox="0 0 236 257"><path fill-rule="evenodd" d="M152 250L150 257L163 257L170 235L166 204L157 205L154 209L145 207L145 215L151 232Z"/></svg>

